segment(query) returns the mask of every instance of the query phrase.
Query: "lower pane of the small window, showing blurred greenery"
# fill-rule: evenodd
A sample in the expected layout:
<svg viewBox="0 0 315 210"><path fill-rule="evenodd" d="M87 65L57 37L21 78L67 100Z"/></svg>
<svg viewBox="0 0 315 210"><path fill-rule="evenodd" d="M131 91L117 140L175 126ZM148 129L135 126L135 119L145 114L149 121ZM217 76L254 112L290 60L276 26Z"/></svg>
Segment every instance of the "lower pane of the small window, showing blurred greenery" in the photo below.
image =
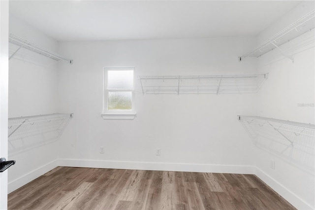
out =
<svg viewBox="0 0 315 210"><path fill-rule="evenodd" d="M132 109L132 92L108 92L108 110Z"/></svg>

